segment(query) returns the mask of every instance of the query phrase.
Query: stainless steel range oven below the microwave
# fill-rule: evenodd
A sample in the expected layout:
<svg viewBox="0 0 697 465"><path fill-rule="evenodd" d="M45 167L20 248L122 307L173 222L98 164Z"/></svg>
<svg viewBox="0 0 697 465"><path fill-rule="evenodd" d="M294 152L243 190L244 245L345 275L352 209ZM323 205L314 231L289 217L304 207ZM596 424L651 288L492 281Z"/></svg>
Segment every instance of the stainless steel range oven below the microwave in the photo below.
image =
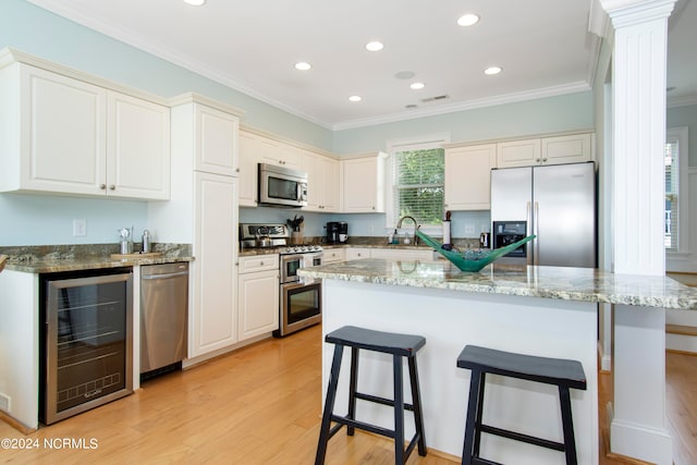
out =
<svg viewBox="0 0 697 465"><path fill-rule="evenodd" d="M284 336L322 320L321 280L305 282L297 270L322 264L322 254L281 255L280 325L274 333Z"/></svg>

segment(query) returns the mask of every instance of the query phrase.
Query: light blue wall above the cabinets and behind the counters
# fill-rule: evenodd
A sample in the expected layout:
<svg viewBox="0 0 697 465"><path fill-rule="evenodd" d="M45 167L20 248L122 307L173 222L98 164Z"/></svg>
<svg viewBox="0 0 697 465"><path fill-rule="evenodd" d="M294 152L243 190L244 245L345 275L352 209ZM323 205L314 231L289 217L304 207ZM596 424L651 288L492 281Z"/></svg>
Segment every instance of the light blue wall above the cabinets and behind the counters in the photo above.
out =
<svg viewBox="0 0 697 465"><path fill-rule="evenodd" d="M2 0L0 48L54 61L163 97L195 91L244 110L242 123L335 154L384 150L386 140L449 132L452 142L592 127L592 96L577 93L370 127L331 132L234 89L161 60L23 0ZM2 156L0 154L0 156ZM60 156L60 154L57 154ZM327 221L347 221L351 235L383 235L384 215L304 213L306 235L323 235ZM241 221L285 222L288 210L241 210ZM115 230L147 220L147 204L107 199L0 194L0 245L112 243ZM73 237L73 219L87 220L87 235ZM453 213L453 236L477 236L488 212Z"/></svg>

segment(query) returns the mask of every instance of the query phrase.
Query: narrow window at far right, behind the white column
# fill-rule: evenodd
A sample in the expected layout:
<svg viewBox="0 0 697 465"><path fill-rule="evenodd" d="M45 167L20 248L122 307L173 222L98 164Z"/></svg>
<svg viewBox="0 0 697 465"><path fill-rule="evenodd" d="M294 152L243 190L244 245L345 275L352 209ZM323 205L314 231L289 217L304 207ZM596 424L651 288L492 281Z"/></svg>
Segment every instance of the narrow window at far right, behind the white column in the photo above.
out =
<svg viewBox="0 0 697 465"><path fill-rule="evenodd" d="M687 154L687 129L669 129L665 133L663 160L665 166L665 229L664 245L667 252L681 252L686 244L681 243L682 223L687 208L685 167L681 169L681 155ZM685 235L686 237L686 235Z"/></svg>

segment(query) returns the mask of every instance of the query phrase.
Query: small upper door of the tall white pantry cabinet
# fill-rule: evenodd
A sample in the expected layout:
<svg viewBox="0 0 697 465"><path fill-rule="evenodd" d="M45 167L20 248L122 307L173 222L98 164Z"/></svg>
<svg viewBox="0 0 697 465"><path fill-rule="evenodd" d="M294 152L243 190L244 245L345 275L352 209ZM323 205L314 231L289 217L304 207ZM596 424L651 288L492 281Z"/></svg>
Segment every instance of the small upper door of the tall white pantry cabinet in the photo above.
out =
<svg viewBox="0 0 697 465"><path fill-rule="evenodd" d="M193 107L198 135L194 169L228 176L239 175L240 119L205 105L194 103Z"/></svg>

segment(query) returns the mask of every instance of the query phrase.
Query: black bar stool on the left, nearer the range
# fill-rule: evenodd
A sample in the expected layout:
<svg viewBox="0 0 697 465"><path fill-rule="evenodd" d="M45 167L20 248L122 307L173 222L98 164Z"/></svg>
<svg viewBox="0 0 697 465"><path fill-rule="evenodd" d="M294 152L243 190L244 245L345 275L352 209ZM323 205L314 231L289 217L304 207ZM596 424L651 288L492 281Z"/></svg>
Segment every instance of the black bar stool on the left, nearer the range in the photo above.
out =
<svg viewBox="0 0 697 465"><path fill-rule="evenodd" d="M315 464L320 465L325 463L327 443L329 442L329 439L331 439L331 437L334 436L344 425L346 425L346 432L348 436L353 436L355 428L358 428L394 439L394 461L396 464L404 464L416 444L418 444L418 454L421 456L426 455L421 397L418 389L418 374L416 370L416 352L426 344L426 339L420 335L396 334L345 326L327 334L325 341L335 344L335 346ZM341 368L344 346L351 347L348 413L346 416L338 416L334 415L333 411L334 401L337 399L337 386L339 382L339 369ZM360 348L392 354L394 400L364 394L356 391L358 380L358 350ZM404 403L402 381L403 357L406 357L408 362L409 382L412 384L412 404ZM356 420L355 414L357 399L392 406L394 408L394 430ZM414 438L412 438L406 450L404 449L405 409L414 412L414 423L416 424L416 433L414 435ZM332 421L337 423L337 425L330 429Z"/></svg>

